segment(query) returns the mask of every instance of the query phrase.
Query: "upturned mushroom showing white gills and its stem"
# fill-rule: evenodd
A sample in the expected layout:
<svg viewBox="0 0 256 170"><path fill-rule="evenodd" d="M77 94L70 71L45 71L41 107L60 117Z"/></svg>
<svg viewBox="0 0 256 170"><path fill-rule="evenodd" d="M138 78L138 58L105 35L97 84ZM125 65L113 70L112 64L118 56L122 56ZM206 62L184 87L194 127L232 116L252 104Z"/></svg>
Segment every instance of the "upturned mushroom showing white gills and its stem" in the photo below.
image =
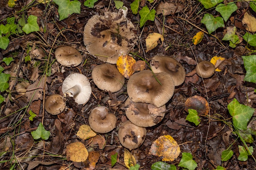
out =
<svg viewBox="0 0 256 170"><path fill-rule="evenodd" d="M76 103L86 103L92 94L92 88L90 82L86 76L79 73L68 75L63 81L62 92L64 97L74 97Z"/></svg>

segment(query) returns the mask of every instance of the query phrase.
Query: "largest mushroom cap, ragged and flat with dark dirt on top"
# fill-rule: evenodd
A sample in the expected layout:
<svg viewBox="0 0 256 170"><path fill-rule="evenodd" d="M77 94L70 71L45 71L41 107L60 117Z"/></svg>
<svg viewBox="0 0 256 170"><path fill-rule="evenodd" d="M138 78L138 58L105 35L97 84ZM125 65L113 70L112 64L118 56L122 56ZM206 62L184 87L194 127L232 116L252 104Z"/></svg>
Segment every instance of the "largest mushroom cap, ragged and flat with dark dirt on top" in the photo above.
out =
<svg viewBox="0 0 256 170"><path fill-rule="evenodd" d="M104 14L92 16L84 26L84 45L94 57L115 64L120 55L132 51L138 37L134 25L122 13Z"/></svg>

